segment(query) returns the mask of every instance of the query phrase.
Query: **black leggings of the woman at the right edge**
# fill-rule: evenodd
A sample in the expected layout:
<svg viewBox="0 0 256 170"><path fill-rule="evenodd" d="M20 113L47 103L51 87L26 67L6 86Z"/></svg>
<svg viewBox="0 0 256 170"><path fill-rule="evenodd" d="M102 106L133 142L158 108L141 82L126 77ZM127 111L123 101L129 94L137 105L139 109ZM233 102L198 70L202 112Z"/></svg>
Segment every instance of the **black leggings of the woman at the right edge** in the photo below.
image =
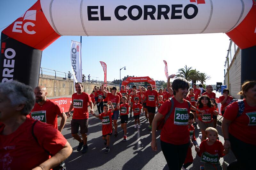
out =
<svg viewBox="0 0 256 170"><path fill-rule="evenodd" d="M237 161L232 162L228 166L228 170L255 169L256 145L245 143L229 133L229 141L231 150ZM255 142L255 141L254 141Z"/></svg>

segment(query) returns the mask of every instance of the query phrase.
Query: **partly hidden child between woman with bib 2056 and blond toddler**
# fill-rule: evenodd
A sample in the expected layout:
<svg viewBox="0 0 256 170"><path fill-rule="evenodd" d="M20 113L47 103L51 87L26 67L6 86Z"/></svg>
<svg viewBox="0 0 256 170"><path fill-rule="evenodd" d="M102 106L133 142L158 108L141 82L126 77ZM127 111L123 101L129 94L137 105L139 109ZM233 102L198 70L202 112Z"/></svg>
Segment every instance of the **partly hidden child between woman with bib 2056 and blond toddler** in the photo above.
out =
<svg viewBox="0 0 256 170"><path fill-rule="evenodd" d="M195 131L194 131L195 128L193 126L194 117L195 117L194 114L192 112L190 112L189 113L189 118L188 118L188 131L189 131L190 139L192 140L193 144L195 146L198 146L198 143L196 142ZM182 170L185 170L189 165L191 165L193 163L193 156L192 156L191 147L188 148L187 157L184 161L184 165L182 166Z"/></svg>

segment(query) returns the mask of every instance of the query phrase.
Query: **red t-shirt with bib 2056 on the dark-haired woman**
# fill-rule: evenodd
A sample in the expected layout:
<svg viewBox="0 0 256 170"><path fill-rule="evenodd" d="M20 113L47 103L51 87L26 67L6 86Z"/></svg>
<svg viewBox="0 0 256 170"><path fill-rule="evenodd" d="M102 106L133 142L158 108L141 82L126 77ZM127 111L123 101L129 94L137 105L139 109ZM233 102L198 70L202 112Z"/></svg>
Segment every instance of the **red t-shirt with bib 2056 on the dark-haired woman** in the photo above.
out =
<svg viewBox="0 0 256 170"><path fill-rule="evenodd" d="M190 108L188 108L188 102L185 99L183 99L183 103L179 103L175 98L173 100L174 107L164 124L160 139L173 145L187 144L189 142L188 113ZM159 113L165 116L171 110L171 106L170 99L165 101Z"/></svg>

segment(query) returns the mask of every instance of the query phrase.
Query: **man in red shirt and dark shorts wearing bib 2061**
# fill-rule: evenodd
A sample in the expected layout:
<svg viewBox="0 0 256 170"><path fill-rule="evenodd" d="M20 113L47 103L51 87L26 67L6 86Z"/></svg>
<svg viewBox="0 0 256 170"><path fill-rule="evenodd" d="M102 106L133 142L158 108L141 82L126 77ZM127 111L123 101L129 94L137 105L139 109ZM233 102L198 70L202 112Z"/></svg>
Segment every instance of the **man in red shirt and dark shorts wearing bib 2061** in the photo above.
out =
<svg viewBox="0 0 256 170"><path fill-rule="evenodd" d="M88 132L88 103L90 103L91 113L93 114L93 103L90 96L83 92L83 85L80 82L75 84L76 93L72 95L72 103L70 104L68 110L68 117L70 116L70 111L74 108L73 117L71 120L71 134L75 138L79 145L77 146L77 151L80 151L83 146L82 153L86 153L88 150L87 145L87 132ZM78 135L78 130L80 126L80 133L83 140Z"/></svg>

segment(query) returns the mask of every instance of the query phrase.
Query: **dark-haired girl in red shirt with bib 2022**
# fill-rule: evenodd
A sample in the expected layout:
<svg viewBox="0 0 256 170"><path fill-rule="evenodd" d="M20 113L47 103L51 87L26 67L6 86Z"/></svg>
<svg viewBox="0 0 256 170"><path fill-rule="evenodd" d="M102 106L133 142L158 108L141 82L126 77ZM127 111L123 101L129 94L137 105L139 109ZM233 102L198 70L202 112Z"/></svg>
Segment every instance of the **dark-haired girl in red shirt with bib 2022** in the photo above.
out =
<svg viewBox="0 0 256 170"><path fill-rule="evenodd" d="M218 111L215 110L215 106L211 103L208 96L201 96L198 100L197 109L204 110L204 113L199 113L196 111L198 117L198 126L202 132L201 141L206 139L205 129L208 127L213 127L212 116L218 115Z"/></svg>

